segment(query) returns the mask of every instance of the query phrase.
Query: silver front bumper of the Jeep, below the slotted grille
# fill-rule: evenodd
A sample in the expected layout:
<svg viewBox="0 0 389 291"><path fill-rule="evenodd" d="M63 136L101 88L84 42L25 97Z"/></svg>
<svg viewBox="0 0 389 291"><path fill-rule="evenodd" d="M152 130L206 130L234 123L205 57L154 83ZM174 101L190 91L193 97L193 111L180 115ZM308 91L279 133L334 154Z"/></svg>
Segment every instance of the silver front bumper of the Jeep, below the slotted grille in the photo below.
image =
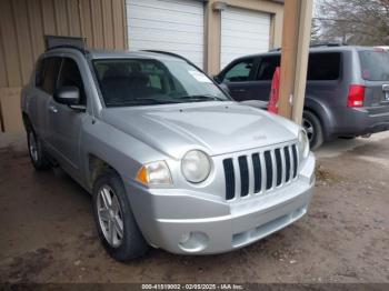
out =
<svg viewBox="0 0 389 291"><path fill-rule="evenodd" d="M127 183L146 240L172 253L213 254L256 242L303 217L313 194L315 158L292 183L236 203L186 190L150 190Z"/></svg>

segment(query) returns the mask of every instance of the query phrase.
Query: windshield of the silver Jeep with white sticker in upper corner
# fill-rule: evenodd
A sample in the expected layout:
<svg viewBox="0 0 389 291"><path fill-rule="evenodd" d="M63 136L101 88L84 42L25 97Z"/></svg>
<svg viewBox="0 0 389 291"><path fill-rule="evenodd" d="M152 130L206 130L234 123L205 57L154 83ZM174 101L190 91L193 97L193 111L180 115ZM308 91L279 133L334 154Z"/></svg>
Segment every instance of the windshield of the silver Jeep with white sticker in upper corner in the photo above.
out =
<svg viewBox="0 0 389 291"><path fill-rule="evenodd" d="M189 63L152 59L99 59L94 71L107 107L230 101Z"/></svg>

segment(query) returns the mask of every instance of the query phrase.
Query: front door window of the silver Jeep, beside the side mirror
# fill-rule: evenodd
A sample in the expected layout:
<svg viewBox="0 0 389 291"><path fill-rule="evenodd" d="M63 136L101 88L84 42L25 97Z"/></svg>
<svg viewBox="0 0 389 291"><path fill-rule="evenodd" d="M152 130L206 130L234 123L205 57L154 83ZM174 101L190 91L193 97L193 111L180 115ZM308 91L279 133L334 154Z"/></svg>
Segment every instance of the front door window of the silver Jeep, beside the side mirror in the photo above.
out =
<svg viewBox="0 0 389 291"><path fill-rule="evenodd" d="M80 104L87 104L87 98L83 88L83 81L74 60L64 58L57 87L72 86L80 90Z"/></svg>

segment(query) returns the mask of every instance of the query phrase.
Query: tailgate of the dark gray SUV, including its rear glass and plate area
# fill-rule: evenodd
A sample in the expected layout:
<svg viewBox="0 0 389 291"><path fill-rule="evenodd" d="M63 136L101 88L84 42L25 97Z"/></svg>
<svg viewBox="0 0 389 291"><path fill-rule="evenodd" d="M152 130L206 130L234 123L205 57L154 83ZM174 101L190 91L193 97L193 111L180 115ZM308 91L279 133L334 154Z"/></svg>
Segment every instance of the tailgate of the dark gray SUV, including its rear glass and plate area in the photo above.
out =
<svg viewBox="0 0 389 291"><path fill-rule="evenodd" d="M376 113L389 110L389 52L381 49L358 52L366 94L363 106Z"/></svg>

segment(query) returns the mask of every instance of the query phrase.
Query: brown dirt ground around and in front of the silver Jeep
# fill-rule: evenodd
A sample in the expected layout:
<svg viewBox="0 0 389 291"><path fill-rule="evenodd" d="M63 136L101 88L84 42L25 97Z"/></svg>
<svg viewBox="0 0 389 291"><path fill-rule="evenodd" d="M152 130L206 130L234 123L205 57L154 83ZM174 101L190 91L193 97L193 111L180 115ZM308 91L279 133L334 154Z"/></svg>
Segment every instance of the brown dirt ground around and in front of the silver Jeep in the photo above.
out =
<svg viewBox="0 0 389 291"><path fill-rule="evenodd" d="M118 263L100 245L90 197L37 173L21 136L0 134L0 282L389 282L389 134L339 140L318 155L309 213L242 250L151 250Z"/></svg>

